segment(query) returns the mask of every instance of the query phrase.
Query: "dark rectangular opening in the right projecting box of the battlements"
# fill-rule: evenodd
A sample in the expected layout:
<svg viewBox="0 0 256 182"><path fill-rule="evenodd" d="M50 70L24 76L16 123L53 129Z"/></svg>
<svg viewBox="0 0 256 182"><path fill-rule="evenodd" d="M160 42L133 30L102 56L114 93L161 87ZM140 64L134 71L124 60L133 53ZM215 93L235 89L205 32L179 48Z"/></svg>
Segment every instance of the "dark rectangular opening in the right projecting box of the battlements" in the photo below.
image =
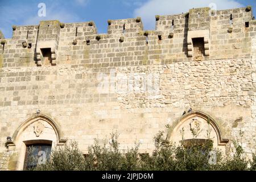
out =
<svg viewBox="0 0 256 182"><path fill-rule="evenodd" d="M204 38L192 38L194 60L204 59Z"/></svg>

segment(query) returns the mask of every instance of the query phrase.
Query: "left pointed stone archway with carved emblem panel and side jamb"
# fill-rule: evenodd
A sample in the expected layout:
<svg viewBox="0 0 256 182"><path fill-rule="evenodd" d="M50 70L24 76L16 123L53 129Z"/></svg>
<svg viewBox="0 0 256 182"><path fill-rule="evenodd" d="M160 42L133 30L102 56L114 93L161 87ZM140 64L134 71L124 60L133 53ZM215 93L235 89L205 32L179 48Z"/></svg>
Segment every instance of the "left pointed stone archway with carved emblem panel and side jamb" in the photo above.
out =
<svg viewBox="0 0 256 182"><path fill-rule="evenodd" d="M7 140L7 150L11 157L9 168L22 170L26 159L26 148L29 144L51 144L52 148L63 146L66 139L63 138L60 126L46 114L35 114L24 121L15 130L13 137Z"/></svg>

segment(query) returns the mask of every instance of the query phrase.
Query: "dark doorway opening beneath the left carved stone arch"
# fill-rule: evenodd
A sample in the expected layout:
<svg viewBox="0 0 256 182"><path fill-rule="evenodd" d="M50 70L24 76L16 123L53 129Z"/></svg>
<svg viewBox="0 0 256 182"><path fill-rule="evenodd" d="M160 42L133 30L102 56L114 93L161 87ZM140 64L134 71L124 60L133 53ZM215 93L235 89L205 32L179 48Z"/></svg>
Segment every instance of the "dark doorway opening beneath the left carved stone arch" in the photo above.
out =
<svg viewBox="0 0 256 182"><path fill-rule="evenodd" d="M26 146L24 160L25 170L34 168L40 164L45 164L51 154L52 144L35 143Z"/></svg>

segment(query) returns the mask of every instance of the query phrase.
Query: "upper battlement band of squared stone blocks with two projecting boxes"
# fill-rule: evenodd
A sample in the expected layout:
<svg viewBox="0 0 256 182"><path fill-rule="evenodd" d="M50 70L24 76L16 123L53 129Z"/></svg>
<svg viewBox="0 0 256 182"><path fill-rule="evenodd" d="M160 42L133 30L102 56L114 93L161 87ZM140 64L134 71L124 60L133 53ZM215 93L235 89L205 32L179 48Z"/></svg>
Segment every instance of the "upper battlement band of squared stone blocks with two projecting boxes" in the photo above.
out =
<svg viewBox="0 0 256 182"><path fill-rule="evenodd" d="M250 57L256 24L250 6L218 11L205 7L155 18L151 31L143 30L139 17L108 20L108 34L97 34L94 22L13 26L13 38L1 39L0 65L41 66L45 57L52 65L86 67Z"/></svg>

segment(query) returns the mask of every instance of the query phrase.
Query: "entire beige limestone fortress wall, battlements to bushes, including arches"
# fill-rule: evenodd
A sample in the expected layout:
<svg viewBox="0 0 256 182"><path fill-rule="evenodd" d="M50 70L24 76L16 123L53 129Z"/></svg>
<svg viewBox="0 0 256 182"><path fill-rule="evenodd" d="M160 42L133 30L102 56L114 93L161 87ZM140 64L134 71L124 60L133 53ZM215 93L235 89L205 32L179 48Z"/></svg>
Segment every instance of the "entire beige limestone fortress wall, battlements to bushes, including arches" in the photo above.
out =
<svg viewBox="0 0 256 182"><path fill-rule="evenodd" d="M0 33L0 169L22 170L29 144L52 148L76 140L84 154L94 139L117 131L122 150L154 150L163 130L210 121L214 147L241 139L256 149L256 20L250 6L94 22L42 21ZM188 110L192 108L192 111ZM186 113L184 113L186 111ZM184 113L184 114L183 114ZM240 134L243 134L243 137Z"/></svg>

